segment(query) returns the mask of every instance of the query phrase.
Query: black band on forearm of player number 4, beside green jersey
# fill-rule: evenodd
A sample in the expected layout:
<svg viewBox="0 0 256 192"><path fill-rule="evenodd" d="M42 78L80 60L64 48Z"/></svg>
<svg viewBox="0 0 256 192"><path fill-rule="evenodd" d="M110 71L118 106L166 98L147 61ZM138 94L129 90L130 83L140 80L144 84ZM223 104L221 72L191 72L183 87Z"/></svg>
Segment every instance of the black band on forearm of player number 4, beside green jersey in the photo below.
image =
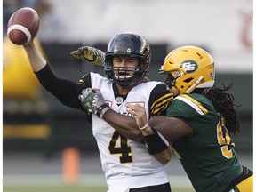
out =
<svg viewBox="0 0 256 192"><path fill-rule="evenodd" d="M168 140L160 132L157 132L155 129L153 131L154 134L144 136L145 144L150 155L155 155L170 147Z"/></svg>

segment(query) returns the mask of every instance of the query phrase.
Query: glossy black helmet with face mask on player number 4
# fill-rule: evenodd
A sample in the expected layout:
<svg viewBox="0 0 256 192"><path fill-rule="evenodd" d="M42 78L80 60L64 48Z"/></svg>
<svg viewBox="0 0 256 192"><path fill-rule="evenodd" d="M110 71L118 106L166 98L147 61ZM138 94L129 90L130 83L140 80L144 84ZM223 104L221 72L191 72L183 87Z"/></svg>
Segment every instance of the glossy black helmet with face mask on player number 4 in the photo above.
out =
<svg viewBox="0 0 256 192"><path fill-rule="evenodd" d="M125 78L115 76L114 70L119 70L119 68L113 67L113 58L117 55L138 57L140 59L138 67L134 69L133 76ZM133 33L121 33L114 36L108 44L108 50L105 53L105 75L116 84L128 86L147 75L150 61L151 50L144 37ZM126 70L130 69L126 68Z"/></svg>

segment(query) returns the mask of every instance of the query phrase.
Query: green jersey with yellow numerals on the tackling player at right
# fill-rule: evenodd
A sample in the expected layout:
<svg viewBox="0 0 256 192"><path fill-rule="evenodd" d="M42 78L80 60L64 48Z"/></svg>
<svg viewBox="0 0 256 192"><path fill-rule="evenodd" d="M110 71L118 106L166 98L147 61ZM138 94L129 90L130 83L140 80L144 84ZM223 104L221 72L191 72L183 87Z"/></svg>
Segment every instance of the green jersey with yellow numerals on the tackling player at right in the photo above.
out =
<svg viewBox="0 0 256 192"><path fill-rule="evenodd" d="M242 173L225 120L203 94L172 100L167 116L183 120L195 133L173 142L176 156L197 192L225 191Z"/></svg>

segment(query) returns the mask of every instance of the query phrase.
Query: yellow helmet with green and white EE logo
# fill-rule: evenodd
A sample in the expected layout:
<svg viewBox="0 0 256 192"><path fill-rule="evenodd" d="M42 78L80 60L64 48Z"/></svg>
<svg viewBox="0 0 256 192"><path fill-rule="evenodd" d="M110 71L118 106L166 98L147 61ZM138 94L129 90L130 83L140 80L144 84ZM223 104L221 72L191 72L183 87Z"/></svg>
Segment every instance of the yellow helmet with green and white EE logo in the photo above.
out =
<svg viewBox="0 0 256 192"><path fill-rule="evenodd" d="M196 88L212 87L215 69L212 56L196 46L182 46L170 52L158 71L168 77L174 96L190 93Z"/></svg>

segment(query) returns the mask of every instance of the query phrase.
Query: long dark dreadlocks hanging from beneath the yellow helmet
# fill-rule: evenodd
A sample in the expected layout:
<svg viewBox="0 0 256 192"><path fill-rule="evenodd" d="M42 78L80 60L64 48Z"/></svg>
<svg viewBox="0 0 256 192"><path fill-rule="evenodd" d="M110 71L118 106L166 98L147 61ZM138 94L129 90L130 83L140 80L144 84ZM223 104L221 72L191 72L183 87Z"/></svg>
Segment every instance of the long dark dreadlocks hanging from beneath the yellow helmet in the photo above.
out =
<svg viewBox="0 0 256 192"><path fill-rule="evenodd" d="M204 93L209 100L212 101L214 107L225 119L225 125L228 132L236 134L240 132L240 122L239 116L235 110L237 106L234 103L234 96L227 91L233 86L233 83L229 84L227 87L223 85L223 89L217 88L215 85L212 88L204 90Z"/></svg>

